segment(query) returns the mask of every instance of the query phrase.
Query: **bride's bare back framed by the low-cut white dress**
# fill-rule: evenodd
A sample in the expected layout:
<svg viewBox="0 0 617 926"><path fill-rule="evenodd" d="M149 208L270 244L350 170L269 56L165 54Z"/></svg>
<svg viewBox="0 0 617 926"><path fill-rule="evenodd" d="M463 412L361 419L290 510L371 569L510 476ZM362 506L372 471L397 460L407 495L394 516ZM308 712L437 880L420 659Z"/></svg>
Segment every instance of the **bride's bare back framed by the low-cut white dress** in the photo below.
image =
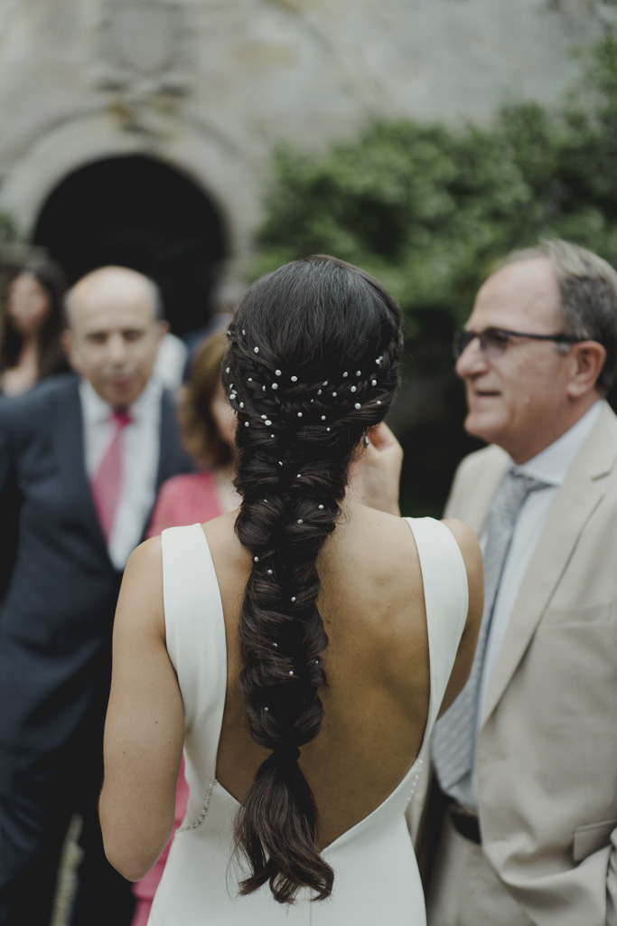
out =
<svg viewBox="0 0 617 926"><path fill-rule="evenodd" d="M204 525L222 597L228 689L216 762L219 782L242 800L267 753L247 730L238 684L238 619L250 557L233 531L235 516ZM328 845L377 807L413 765L429 700L422 574L407 522L350 504L318 559L325 720L302 747L300 766ZM444 576L444 580L447 577Z"/></svg>

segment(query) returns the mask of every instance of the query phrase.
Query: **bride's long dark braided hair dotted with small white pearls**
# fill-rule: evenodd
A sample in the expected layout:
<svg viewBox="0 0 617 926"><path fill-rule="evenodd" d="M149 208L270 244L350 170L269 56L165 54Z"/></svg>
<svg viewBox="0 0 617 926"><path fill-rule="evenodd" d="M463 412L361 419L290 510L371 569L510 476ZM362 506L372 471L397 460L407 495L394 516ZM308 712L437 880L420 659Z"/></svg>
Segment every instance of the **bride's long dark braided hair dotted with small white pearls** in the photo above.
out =
<svg viewBox="0 0 617 926"><path fill-rule="evenodd" d="M310 257L250 288L229 329L223 382L238 413L236 521L253 557L239 625L241 693L253 741L271 751L236 820L249 894L330 895L318 818L298 765L321 730L327 633L319 550L334 531L350 462L388 411L401 353L398 308L362 270Z"/></svg>

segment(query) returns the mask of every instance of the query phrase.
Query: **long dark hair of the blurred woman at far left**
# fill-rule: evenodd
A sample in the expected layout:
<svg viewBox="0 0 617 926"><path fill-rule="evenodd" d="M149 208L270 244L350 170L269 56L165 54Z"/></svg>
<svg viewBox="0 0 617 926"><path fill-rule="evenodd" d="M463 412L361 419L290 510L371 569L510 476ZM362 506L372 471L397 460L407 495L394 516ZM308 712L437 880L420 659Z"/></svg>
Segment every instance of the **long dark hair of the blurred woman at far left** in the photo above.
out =
<svg viewBox="0 0 617 926"><path fill-rule="evenodd" d="M63 300L66 290L65 276L59 264L54 260L32 260L15 274L17 280L23 273L30 273L43 288L48 299L48 309L43 319L40 332L36 335L39 349L39 369L37 379L43 380L52 373L68 369L67 357L60 344L63 324ZM0 368L11 369L17 365L23 338L11 326L6 315L4 330L0 338Z"/></svg>

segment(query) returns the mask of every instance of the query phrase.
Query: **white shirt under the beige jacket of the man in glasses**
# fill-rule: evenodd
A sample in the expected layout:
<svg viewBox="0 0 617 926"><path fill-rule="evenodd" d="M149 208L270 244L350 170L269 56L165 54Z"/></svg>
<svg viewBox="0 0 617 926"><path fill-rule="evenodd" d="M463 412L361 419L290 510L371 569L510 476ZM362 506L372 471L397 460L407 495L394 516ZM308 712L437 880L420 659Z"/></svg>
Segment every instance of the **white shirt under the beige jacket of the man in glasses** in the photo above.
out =
<svg viewBox="0 0 617 926"><path fill-rule="evenodd" d="M549 517L549 508L574 463L574 457L585 444L587 437L596 424L601 409L602 403L600 401L594 403L583 418L579 419L565 434L561 434L561 437L545 450L537 454L537 457L533 457L522 466L516 466L511 459L511 465L507 468L514 469L514 471L523 473L525 476L531 476L540 482L547 482L548 488L527 495L514 525L512 542L501 574L500 587L495 599L495 607L493 608L493 616L488 632L487 651L482 667L482 678L480 679L475 730L476 743L487 705L488 687L500 655L501 644L512 615L512 607L514 607L516 596L524 580L524 574L529 567L531 557L534 555L538 537L542 532L546 519ZM487 531L485 527L480 532L480 546L483 555L486 543ZM450 789L450 795L463 807L477 808L477 772L475 766L468 775L465 775L460 782L457 782Z"/></svg>

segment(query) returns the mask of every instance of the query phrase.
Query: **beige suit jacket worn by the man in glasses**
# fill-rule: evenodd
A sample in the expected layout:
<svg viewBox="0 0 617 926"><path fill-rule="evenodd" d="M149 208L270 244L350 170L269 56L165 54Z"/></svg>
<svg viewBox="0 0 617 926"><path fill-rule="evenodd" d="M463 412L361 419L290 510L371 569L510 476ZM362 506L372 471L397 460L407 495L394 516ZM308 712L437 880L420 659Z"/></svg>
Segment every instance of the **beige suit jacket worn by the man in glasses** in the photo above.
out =
<svg viewBox="0 0 617 926"><path fill-rule="evenodd" d="M508 459L496 446L466 457L447 516L479 533ZM514 602L477 771L483 851L530 919L617 923L617 418L606 404Z"/></svg>

